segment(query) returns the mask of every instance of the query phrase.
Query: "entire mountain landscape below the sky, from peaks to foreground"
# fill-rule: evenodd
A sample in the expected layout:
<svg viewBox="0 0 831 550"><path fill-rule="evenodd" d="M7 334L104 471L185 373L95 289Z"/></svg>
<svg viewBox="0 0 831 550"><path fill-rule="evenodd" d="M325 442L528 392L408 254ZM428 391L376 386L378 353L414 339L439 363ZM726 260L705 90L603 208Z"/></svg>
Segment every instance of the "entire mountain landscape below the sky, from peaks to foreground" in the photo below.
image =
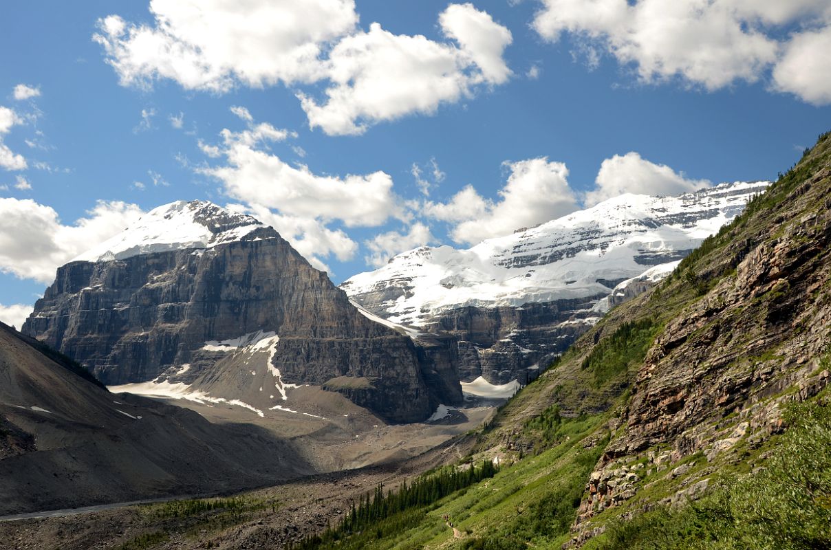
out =
<svg viewBox="0 0 831 550"><path fill-rule="evenodd" d="M157 209L151 221L188 213L191 238L168 232L175 243L159 246L135 231L121 235L59 268L22 334L2 327L3 349L17 354L3 363L12 381L0 410L4 479L64 492L24 501L26 490L10 486L6 512L105 502L91 495L111 479L84 473L116 472L135 485L134 467L166 468L181 485L124 484L110 502L195 499L0 523L0 541L20 549L93 540L101 548L509 550L624 548L623 540L652 548L637 546L645 535L627 530L637 525L678 544L667 548L700 548L683 522L733 541L739 531L719 522L752 522L748 498L780 514L775 521L793 523L799 503L806 522L821 524L825 497L770 492L781 490L787 453L810 446L804 434L813 434L819 462L816 476L794 483L831 491L822 443L831 433L829 194L831 137L823 135L774 184L623 197L595 207L602 216L583 211L469 251L418 248L343 290L255 220L205 203ZM617 233L603 233L596 219ZM194 237L194 220L207 233ZM175 425L162 420L173 417ZM162 432L186 449L146 439ZM125 441L135 456L129 472ZM96 445L99 454L76 450ZM167 461L145 459L162 447ZM222 454L219 463L194 459L221 471L170 463L195 449ZM32 460L42 474L22 473ZM286 467L277 472L278 464ZM386 491L478 464L494 472L447 496L385 508ZM52 472L66 481L42 479ZM210 496L305 474L314 475L235 500ZM205 476L239 486L205 490ZM356 521L356 502L371 529L344 527ZM696 516L701 509L715 515ZM829 540L821 528L809 543L787 530L764 533L760 548ZM754 544L756 536L748 534ZM724 548L745 548L736 544Z"/></svg>

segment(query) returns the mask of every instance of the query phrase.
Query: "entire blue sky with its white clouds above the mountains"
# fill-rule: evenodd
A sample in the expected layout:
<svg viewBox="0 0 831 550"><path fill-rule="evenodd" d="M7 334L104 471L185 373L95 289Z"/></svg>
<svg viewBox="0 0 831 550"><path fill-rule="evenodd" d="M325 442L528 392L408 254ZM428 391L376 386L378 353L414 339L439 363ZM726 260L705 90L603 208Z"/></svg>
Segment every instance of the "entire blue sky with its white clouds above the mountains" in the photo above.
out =
<svg viewBox="0 0 831 550"><path fill-rule="evenodd" d="M340 282L621 192L774 179L831 126L831 2L667 2L4 6L0 319L178 199Z"/></svg>

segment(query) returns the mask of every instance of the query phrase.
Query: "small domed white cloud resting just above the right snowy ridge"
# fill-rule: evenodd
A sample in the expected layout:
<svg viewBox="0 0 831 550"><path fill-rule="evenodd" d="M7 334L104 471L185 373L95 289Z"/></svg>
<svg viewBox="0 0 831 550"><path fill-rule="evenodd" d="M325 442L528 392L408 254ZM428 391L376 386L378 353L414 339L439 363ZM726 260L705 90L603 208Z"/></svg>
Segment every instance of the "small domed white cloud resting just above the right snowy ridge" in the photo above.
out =
<svg viewBox="0 0 831 550"><path fill-rule="evenodd" d="M686 179L667 165L656 165L635 152L603 160L596 188L586 194L586 206L624 193L676 195L709 187L707 179Z"/></svg>

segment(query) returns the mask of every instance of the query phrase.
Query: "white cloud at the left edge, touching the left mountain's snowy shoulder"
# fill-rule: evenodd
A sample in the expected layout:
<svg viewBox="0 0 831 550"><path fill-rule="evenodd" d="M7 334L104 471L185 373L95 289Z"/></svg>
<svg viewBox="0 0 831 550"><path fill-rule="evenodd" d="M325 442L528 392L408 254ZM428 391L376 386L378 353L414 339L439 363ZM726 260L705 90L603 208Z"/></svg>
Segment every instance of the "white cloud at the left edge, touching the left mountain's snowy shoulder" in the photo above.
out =
<svg viewBox="0 0 831 550"><path fill-rule="evenodd" d="M72 225L31 199L0 199L0 272L52 282L55 269L119 233L143 212L135 204L99 201Z"/></svg>

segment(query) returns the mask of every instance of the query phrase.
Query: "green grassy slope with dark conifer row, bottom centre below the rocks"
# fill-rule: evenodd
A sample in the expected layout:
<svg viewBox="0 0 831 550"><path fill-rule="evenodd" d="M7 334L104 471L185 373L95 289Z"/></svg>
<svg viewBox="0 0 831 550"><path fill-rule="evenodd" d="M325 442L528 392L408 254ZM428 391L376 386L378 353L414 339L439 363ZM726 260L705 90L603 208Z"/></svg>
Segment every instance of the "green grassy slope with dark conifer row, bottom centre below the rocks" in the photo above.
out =
<svg viewBox="0 0 831 550"><path fill-rule="evenodd" d="M459 467L425 474L397 494L376 489L338 528L292 548L529 548L528 541L539 548L559 548L568 539L588 474L608 441L605 432L597 431L605 418L563 418L558 422L560 443L499 469L488 461L474 474ZM441 477L445 480L438 481ZM455 487L459 489L447 493ZM385 516L385 509L391 514Z"/></svg>

